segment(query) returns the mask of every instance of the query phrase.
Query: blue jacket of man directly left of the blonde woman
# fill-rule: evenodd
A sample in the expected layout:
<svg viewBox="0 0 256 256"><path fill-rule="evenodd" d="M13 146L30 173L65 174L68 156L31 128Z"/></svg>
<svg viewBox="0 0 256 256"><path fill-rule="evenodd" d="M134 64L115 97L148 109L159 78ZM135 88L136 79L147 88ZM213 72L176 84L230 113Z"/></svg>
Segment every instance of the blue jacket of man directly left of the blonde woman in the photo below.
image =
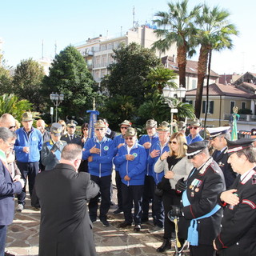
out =
<svg viewBox="0 0 256 256"><path fill-rule="evenodd" d="M169 142L169 140L168 140L168 142ZM154 164L158 161L158 158L160 158L161 154L162 154L163 152L165 152L165 151L166 151L166 152L169 152L169 151L170 151L169 146L168 146L168 142L166 142L165 146L163 146L162 149L161 149L161 143L160 143L159 141L156 142L156 143L154 143L153 146L151 146L151 151L153 151L153 150L160 150L160 154L159 154L158 157L156 157L156 158L151 158L151 157L150 157L150 154L149 154L149 156L148 156L148 158L147 158L147 161L148 161L150 167L152 168L152 170L154 170ZM153 176L153 178L154 178L154 182L155 182L156 184L158 184L159 182L161 182L161 181L162 181L162 177L164 176L164 174L165 174L164 170L162 170L162 172L160 172L160 173L155 173L155 172L153 171L153 172L152 172L152 176Z"/></svg>

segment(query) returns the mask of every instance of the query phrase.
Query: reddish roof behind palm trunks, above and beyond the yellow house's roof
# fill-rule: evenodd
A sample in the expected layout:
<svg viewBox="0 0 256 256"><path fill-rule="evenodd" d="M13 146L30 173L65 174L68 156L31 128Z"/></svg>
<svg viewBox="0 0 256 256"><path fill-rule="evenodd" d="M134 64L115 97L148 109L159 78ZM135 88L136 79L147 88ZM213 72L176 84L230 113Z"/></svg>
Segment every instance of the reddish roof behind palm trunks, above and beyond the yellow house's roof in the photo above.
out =
<svg viewBox="0 0 256 256"><path fill-rule="evenodd" d="M178 63L173 61L174 58L170 56L162 57L162 64L168 69L178 72ZM168 66L166 65L168 62ZM198 62L186 60L186 73L198 74ZM218 74L213 70L210 70L210 75L218 77Z"/></svg>

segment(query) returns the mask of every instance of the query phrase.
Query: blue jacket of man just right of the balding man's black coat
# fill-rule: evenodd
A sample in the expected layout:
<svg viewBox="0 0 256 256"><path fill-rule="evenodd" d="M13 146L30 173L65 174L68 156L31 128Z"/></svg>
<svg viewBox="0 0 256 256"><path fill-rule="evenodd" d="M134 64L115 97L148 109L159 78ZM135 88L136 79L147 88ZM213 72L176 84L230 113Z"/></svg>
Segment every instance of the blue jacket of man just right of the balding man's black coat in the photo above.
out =
<svg viewBox="0 0 256 256"><path fill-rule="evenodd" d="M90 154L90 149L96 145L96 148L100 149L100 154ZM99 142L98 138L90 138L86 141L83 147L82 159L87 160L88 157L92 156L93 161L88 162L89 173L104 177L111 175L112 173L112 159L114 157L114 144L110 138L102 138Z"/></svg>

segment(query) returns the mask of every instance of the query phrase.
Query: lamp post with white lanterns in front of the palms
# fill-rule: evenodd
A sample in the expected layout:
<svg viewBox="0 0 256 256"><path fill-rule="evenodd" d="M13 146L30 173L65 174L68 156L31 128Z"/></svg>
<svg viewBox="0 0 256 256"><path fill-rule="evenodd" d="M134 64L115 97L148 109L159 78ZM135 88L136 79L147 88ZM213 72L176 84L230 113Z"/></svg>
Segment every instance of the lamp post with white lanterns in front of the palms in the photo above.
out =
<svg viewBox="0 0 256 256"><path fill-rule="evenodd" d="M182 85L178 89L167 85L162 89L162 96L170 107L170 134L173 134L174 113L178 113L178 103L182 102L182 98L185 98L185 95L186 89Z"/></svg>

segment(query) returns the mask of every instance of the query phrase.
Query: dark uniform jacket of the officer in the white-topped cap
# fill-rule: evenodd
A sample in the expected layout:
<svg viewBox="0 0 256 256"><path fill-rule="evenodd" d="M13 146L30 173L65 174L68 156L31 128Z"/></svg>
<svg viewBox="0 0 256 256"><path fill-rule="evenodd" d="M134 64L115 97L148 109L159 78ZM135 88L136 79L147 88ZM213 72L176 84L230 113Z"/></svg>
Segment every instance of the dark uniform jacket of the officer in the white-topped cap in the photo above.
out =
<svg viewBox="0 0 256 256"><path fill-rule="evenodd" d="M212 155L214 161L218 163L218 166L222 169L222 173L225 177L226 189L228 190L233 184L234 179L237 177L237 174L234 173L230 163L227 163L227 159L230 157L230 154L227 153L227 149L223 150L221 154L217 156L217 151L214 151Z"/></svg>

